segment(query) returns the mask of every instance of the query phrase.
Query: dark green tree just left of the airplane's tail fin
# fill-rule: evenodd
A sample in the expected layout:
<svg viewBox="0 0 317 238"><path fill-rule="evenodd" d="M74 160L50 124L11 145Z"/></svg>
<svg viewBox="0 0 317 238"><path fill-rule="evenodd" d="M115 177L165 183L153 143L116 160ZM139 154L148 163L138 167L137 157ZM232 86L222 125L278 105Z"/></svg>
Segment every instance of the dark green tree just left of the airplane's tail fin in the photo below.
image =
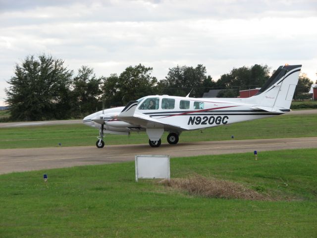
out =
<svg viewBox="0 0 317 238"><path fill-rule="evenodd" d="M255 64L251 67L233 68L230 73L223 74L216 82L217 87L231 87L235 96L239 90L261 87L269 78L267 65Z"/></svg>

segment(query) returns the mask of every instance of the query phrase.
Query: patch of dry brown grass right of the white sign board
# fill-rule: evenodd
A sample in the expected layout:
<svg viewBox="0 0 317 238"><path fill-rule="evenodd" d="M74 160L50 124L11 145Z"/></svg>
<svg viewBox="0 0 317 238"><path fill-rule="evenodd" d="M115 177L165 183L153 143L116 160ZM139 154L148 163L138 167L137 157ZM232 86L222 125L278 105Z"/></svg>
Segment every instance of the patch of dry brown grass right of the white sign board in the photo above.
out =
<svg viewBox="0 0 317 238"><path fill-rule="evenodd" d="M187 179L170 179L161 181L164 185L181 189L193 195L226 199L271 200L267 195L261 194L243 185L219 180L194 176Z"/></svg>

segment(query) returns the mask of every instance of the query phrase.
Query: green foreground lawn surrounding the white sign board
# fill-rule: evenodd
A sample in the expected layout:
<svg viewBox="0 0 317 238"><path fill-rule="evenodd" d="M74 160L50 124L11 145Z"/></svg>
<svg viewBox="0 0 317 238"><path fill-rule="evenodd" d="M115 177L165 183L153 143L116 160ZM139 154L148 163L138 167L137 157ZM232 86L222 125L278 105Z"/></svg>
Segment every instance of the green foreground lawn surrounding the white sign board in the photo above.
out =
<svg viewBox="0 0 317 238"><path fill-rule="evenodd" d="M172 178L236 181L272 201L206 198L153 180L137 183L134 162L1 175L0 237L317 237L316 154L171 159Z"/></svg>

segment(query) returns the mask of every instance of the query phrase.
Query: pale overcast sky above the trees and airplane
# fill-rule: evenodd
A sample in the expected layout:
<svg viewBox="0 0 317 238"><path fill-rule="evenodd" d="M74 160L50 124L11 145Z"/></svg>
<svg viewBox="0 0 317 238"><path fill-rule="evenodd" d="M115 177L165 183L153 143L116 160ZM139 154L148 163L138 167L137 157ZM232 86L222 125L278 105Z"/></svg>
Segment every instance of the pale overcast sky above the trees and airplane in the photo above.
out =
<svg viewBox="0 0 317 238"><path fill-rule="evenodd" d="M317 79L317 0L0 0L0 106L14 66L49 54L97 76L142 63L233 67L303 64Z"/></svg>

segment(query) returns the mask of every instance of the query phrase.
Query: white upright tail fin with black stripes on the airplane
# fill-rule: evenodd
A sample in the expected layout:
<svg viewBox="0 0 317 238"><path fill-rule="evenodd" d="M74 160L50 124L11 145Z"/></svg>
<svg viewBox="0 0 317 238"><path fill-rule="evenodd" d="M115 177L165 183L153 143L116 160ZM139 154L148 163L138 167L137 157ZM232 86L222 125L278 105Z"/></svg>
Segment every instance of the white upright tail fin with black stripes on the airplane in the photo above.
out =
<svg viewBox="0 0 317 238"><path fill-rule="evenodd" d="M271 107L272 111L289 109L301 67L302 65L279 66L260 91L246 99L246 102L256 106Z"/></svg>

